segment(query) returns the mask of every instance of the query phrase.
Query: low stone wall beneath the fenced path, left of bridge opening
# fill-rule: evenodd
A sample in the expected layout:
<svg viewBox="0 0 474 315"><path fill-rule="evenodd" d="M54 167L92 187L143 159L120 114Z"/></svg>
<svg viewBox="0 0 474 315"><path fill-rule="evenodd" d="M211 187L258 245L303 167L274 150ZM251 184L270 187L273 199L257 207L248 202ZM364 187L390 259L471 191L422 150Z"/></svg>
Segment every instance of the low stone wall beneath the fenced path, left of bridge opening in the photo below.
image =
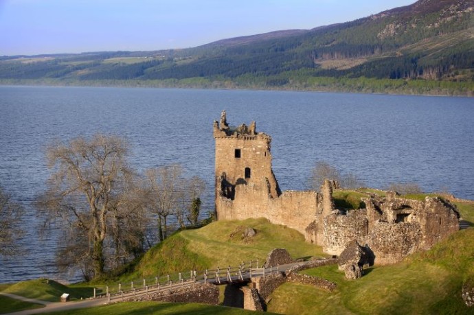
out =
<svg viewBox="0 0 474 315"><path fill-rule="evenodd" d="M171 303L205 303L219 304L219 288L210 283L195 285L192 288L179 288L176 290L163 290L136 296L126 301L161 301Z"/></svg>

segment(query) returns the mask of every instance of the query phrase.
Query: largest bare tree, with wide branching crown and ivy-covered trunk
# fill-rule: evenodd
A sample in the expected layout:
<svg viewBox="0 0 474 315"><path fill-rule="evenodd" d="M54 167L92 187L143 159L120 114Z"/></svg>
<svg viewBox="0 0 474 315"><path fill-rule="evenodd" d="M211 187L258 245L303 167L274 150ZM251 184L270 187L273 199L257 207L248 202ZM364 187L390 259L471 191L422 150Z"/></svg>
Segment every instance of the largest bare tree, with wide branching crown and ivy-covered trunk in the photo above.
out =
<svg viewBox="0 0 474 315"><path fill-rule="evenodd" d="M144 203L136 198L136 174L127 165L127 154L124 139L105 135L47 148L48 166L54 172L47 191L38 198L38 209L45 215L45 227L54 222L71 240L62 246L64 253L76 256L69 261L78 257L91 261L92 277L104 274L107 237L111 244L123 241L123 224L130 226L135 216L142 218ZM73 246L78 243L80 248Z"/></svg>

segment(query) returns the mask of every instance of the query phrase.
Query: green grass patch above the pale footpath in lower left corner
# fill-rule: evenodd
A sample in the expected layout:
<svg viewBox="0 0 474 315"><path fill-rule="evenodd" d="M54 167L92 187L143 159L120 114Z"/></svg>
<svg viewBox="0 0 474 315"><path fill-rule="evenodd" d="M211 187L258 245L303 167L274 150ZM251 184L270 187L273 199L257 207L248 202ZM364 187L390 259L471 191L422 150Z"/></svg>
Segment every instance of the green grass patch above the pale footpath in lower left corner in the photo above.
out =
<svg viewBox="0 0 474 315"><path fill-rule="evenodd" d="M68 293L71 301L93 296L93 288L84 285L66 286L56 281L36 279L21 281L5 288L3 292L24 296L41 301L58 302L63 293Z"/></svg>

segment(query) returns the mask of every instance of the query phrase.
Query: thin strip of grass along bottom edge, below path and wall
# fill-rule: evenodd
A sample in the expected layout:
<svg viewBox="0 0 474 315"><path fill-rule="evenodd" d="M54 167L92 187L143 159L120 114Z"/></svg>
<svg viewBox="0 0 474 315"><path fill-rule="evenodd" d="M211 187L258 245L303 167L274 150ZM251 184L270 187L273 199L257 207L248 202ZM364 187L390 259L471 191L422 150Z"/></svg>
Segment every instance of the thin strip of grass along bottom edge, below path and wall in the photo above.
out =
<svg viewBox="0 0 474 315"><path fill-rule="evenodd" d="M232 307L213 306L198 303L160 303L154 301L146 302L125 302L112 305L92 307L87 309L61 311L45 314L61 314L61 315L102 315L102 314L222 314L222 315L240 315L240 314L264 314L263 312L253 312Z"/></svg>

